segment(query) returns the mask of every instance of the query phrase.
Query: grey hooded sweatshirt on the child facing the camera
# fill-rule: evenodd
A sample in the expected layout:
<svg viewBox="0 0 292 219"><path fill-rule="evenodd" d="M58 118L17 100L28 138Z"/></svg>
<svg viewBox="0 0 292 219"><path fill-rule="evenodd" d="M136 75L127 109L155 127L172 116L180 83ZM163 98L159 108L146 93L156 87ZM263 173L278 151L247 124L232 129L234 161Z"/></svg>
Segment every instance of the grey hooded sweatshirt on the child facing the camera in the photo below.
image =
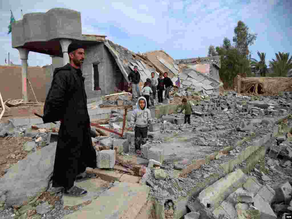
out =
<svg viewBox="0 0 292 219"><path fill-rule="evenodd" d="M139 106L139 100L143 99L145 101L145 107L142 110ZM150 109L147 109L147 101L145 97L139 97L137 100L137 108L133 110L131 115L130 127L138 126L140 128L144 128L151 123L151 113Z"/></svg>

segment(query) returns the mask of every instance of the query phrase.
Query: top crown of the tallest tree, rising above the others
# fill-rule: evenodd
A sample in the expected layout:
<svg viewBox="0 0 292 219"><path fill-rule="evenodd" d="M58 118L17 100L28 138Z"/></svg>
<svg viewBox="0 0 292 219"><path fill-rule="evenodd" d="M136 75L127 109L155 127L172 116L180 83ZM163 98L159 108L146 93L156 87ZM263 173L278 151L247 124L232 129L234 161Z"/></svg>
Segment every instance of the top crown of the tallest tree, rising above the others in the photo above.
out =
<svg viewBox="0 0 292 219"><path fill-rule="evenodd" d="M249 28L244 22L239 20L234 28L233 42L241 55L248 55L248 46L252 45L257 38L257 34L250 34Z"/></svg>

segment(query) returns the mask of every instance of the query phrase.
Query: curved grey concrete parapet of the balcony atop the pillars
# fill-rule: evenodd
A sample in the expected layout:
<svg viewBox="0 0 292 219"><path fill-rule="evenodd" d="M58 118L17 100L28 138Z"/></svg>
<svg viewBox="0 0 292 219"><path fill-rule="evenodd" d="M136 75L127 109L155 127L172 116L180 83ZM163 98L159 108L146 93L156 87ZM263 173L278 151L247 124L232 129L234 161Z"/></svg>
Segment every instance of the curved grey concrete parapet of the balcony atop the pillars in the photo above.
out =
<svg viewBox="0 0 292 219"><path fill-rule="evenodd" d="M82 39L81 14L65 8L53 8L46 13L28 13L12 24L12 47L26 42L56 38Z"/></svg>

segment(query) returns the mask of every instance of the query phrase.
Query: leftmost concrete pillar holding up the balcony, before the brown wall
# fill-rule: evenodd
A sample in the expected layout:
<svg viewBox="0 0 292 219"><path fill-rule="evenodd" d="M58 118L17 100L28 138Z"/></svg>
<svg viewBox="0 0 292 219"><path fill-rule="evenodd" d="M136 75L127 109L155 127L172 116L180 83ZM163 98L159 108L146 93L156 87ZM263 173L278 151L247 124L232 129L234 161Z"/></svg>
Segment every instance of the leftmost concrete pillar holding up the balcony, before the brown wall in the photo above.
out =
<svg viewBox="0 0 292 219"><path fill-rule="evenodd" d="M17 48L19 51L20 59L22 62L22 68L21 68L21 84L22 84L22 98L25 102L28 102L27 97L27 59L28 59L28 53L29 50L25 48Z"/></svg>

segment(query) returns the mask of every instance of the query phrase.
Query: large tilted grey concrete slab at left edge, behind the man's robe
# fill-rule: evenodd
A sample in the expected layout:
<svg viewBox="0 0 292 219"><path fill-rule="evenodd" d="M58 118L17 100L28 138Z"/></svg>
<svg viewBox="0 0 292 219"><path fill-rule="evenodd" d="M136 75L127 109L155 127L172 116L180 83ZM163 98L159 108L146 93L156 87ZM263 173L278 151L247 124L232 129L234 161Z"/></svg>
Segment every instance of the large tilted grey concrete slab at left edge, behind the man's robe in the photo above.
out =
<svg viewBox="0 0 292 219"><path fill-rule="evenodd" d="M48 188L53 174L57 143L29 154L0 179L0 191L6 194L5 204L22 205L28 197L34 197Z"/></svg>

